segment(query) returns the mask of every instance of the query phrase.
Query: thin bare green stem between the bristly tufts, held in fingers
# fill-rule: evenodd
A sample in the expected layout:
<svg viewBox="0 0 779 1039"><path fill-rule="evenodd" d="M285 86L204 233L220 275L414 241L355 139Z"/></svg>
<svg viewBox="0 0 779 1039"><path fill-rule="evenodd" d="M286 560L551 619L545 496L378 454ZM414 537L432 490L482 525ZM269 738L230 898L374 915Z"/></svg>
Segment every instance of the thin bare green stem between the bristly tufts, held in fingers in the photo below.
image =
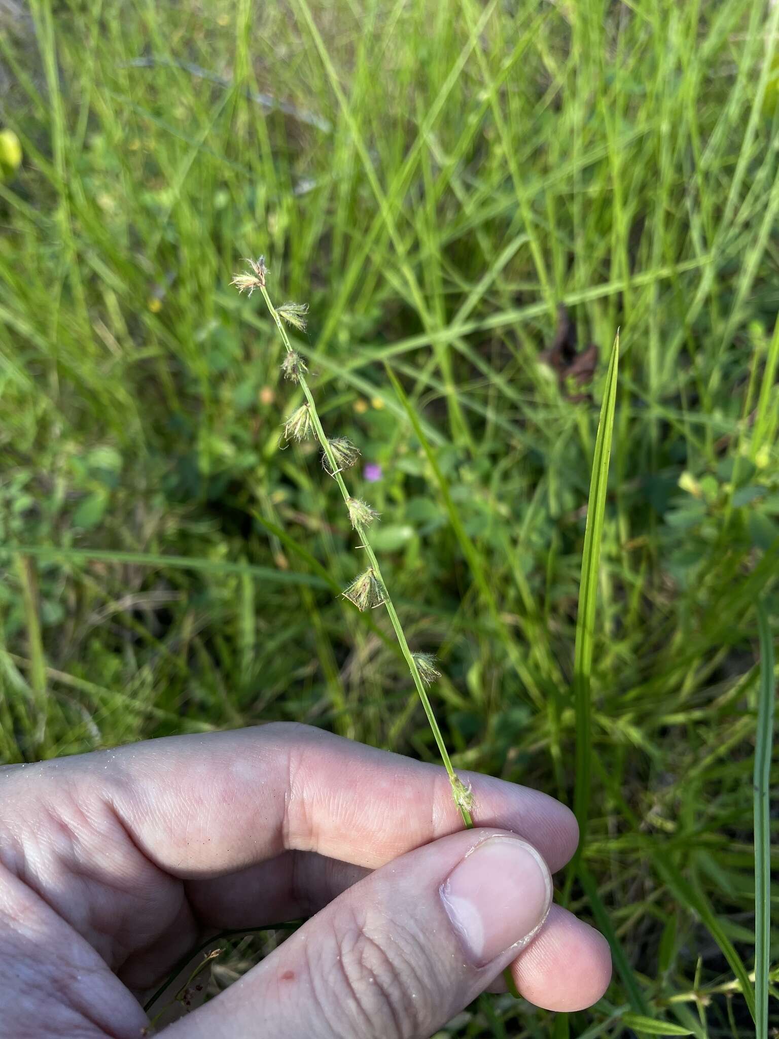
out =
<svg viewBox="0 0 779 1039"><path fill-rule="evenodd" d="M265 288L264 285L259 285L258 288L260 289L260 292L262 292L263 299L265 300L268 311L270 312L271 317L276 323L276 327L278 328L278 332L281 337L281 342L285 345L285 349L287 350L288 353L294 353L295 351L293 350L292 344L290 343L290 338L287 335L287 329L285 328L284 322L281 321L281 318L279 317L275 307L271 302L270 296L268 295L268 290ZM305 378L302 375L302 373L298 374L298 381L300 383L300 389L303 391L303 395L308 404L312 422L314 423L314 429L317 433L317 438L319 443L322 445L322 450L324 451L325 458L327 459L327 463L329 465L329 473L335 480L335 483L339 485L339 489L341 490L341 494L343 496L344 503L348 507L351 496L346 486L346 483L344 482L344 478L341 475L338 462L335 461L335 458L332 454L332 449L330 448L330 442L327 439L327 435L325 434L325 431L322 428L322 423L319 418L319 412L317 411L316 402L314 400L311 390L308 389L308 383L305 381ZM413 659L413 655L411 650L408 648L408 642L406 641L406 636L405 633L403 632L400 618L398 617L395 605L393 604L390 591L386 587L386 582L382 577L381 567L379 566L379 561L376 558L376 554L371 548L371 543L368 539L368 530L366 526L359 523L358 521L354 523L354 529L359 535L361 547L366 550L366 554L368 555L371 568L375 577L381 584L385 596L384 606L386 607L386 612L390 615L390 621L393 628L395 629L395 634L398 638L401 651L406 660L406 664L408 664L408 670L411 672L411 677L413 678L413 684L417 687L417 692L420 694L420 699L422 700L422 705L425 709L427 720L430 722L430 728L432 729L433 737L435 738L435 744L438 748L438 753L441 756L441 761L444 762L444 767L447 770L447 773L449 775L449 780L452 783L452 791L455 797L455 803L457 804L457 807L460 810L460 815L462 816L462 821L465 824L466 828L472 829L474 821L471 817L471 812L466 807L466 805L463 803L462 797L458 796L459 794L464 794L465 790L463 788L462 781L458 778L457 773L455 772L452 766L452 761L449 756L449 751L447 750L447 746L444 743L444 737L441 736L440 727L438 726L438 722L436 721L435 718L435 713L433 712L433 705L430 702L430 697L427 694L427 690L425 689L422 676L420 675L420 669L417 667L417 661Z"/></svg>

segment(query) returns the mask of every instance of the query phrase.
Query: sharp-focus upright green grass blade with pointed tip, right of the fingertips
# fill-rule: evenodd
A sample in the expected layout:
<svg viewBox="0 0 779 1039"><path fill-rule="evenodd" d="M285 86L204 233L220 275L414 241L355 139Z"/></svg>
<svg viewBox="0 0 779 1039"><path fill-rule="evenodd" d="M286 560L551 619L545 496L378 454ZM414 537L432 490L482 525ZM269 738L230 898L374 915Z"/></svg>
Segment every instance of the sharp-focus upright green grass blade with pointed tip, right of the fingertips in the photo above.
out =
<svg viewBox="0 0 779 1039"><path fill-rule="evenodd" d="M614 432L614 410L617 403L617 369L619 366L619 331L614 340L609 371L606 376L603 401L595 437L595 456L592 461L590 497L587 505L587 528L585 531L584 555L582 557L582 580L579 586L579 613L576 616L576 644L573 656L573 698L576 713L576 764L573 810L579 821L579 853L584 847L587 819L590 814L590 772L591 772L591 720L590 720L590 677L592 673L592 649L597 603L598 566L600 563L600 542L603 535L603 514L606 512L606 491L609 482L609 458Z"/></svg>

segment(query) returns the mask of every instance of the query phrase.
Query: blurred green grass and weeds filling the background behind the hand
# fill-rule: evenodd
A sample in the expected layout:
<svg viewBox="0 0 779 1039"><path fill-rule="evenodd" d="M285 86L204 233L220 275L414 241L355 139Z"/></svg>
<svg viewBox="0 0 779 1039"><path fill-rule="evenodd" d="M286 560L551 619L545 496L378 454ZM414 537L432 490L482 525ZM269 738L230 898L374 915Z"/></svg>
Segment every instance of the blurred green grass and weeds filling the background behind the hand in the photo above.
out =
<svg viewBox="0 0 779 1039"><path fill-rule="evenodd" d="M3 0L2 761L278 718L436 760L386 617L338 596L360 563L337 488L279 444L281 345L229 288L264 252L273 297L311 305L326 428L372 467L351 485L440 661L455 764L572 803L619 325L568 891L615 978L586 1013L502 997L446 1034L636 1035L643 1014L753 1035L778 22L755 0Z"/></svg>

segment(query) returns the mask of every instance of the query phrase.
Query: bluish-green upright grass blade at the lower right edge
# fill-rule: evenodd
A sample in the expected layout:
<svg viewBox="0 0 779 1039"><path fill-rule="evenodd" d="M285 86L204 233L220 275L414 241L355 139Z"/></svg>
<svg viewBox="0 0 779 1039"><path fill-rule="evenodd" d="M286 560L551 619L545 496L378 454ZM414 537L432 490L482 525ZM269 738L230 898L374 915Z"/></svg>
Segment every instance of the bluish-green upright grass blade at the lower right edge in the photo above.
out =
<svg viewBox="0 0 779 1039"><path fill-rule="evenodd" d="M769 969L771 967L771 749L774 737L774 640L769 616L757 604L760 683L755 735L755 1035L769 1037Z"/></svg>

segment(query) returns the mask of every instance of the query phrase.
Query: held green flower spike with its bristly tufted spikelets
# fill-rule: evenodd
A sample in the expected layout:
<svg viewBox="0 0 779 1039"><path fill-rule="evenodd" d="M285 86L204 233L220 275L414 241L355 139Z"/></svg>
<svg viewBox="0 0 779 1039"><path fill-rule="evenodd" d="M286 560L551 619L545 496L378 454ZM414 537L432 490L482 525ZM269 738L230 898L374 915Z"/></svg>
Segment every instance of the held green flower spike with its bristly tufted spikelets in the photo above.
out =
<svg viewBox="0 0 779 1039"><path fill-rule="evenodd" d="M243 271L240 274L236 274L232 284L236 286L239 292L248 292L248 294L251 295L251 293L258 289L262 293L265 304L268 308L270 316L276 323L276 327L278 328L278 332L281 337L281 342L284 343L285 350L287 351L285 361L281 365L281 371L286 378L291 379L300 385L303 396L305 397L305 403L301 404L300 407L297 408L297 410L294 411L291 418L285 423L285 434L288 438L302 439L304 436L308 435L308 430L313 429L313 433L319 441L322 448L322 464L324 465L325 472L331 476L338 484L339 490L344 499L344 504L346 505L349 522L359 537L360 547L365 549L366 555L368 556L368 566L346 588L344 596L353 603L359 610L369 610L378 606L383 606L390 615L390 621L395 630L401 651L406 660L406 663L408 664L408 670L411 672L413 684L417 687L417 692L420 694L422 705L425 709L425 714L427 715L430 728L432 729L433 737L435 738L438 753L444 762L444 767L449 775L449 780L452 783L452 796L455 804L462 816L463 823L468 829L471 829L474 825L474 821L471 816L473 794L471 792L469 784L464 783L455 772L452 766L452 761L449 756L449 751L444 743L444 737L441 736L438 722L436 721L435 714L430 702L430 697L428 696L425 688L425 681L428 681L430 677L430 669L426 669L426 676L423 678L423 675L420 672L420 665L418 664L419 658L415 657L408 647L408 642L406 641L406 636L403 632L400 618L398 617L392 596L390 595L390 591L386 587L386 582L382 577L379 561L376 558L376 554L371 548L371 543L368 539L368 527L374 520L377 518L377 513L375 513L365 502L352 497L342 476L344 470L349 469L354 464L359 452L346 437L329 437L325 433L324 428L322 427L322 422L319 418L319 412L317 411L314 396L305 378L305 365L302 363L297 351L293 349L290 337L287 335L285 321L300 331L305 328L305 314L307 313L307 307L300 303L285 303L283 307L276 309L268 295L266 287L268 268L265 266L264 258L260 257L259 260L247 260L246 262L248 263L248 270Z"/></svg>

